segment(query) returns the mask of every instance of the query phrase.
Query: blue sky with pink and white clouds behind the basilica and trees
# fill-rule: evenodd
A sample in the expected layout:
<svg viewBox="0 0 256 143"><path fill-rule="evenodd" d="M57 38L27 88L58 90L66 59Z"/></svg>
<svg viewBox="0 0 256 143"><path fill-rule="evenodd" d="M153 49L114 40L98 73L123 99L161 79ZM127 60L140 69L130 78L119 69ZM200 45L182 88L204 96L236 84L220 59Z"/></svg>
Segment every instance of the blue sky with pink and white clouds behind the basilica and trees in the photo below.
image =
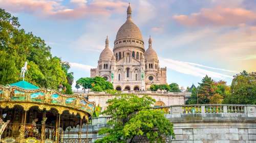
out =
<svg viewBox="0 0 256 143"><path fill-rule="evenodd" d="M233 75L256 71L255 0L0 0L0 8L69 62L77 80L90 77L107 35L113 49L129 3L168 83L186 88L207 74L231 84Z"/></svg>

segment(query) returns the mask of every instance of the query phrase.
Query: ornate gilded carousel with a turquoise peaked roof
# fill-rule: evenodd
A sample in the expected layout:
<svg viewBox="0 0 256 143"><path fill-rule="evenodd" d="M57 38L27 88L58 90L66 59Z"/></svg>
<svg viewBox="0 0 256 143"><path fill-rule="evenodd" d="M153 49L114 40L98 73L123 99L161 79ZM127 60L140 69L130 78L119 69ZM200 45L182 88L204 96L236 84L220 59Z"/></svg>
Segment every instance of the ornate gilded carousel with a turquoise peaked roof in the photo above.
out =
<svg viewBox="0 0 256 143"><path fill-rule="evenodd" d="M0 142L69 142L69 129L88 125L95 103L27 81L0 85Z"/></svg>

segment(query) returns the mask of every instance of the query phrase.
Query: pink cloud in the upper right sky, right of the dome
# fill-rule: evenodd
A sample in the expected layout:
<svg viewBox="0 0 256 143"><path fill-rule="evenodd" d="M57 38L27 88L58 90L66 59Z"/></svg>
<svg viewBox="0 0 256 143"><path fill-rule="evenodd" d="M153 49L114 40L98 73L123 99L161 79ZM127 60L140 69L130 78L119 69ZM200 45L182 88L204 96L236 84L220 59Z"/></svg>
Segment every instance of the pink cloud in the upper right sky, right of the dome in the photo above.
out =
<svg viewBox="0 0 256 143"><path fill-rule="evenodd" d="M239 25L256 20L256 13L243 8L223 8L201 9L199 13L190 15L173 16L179 23L187 26L201 25Z"/></svg>

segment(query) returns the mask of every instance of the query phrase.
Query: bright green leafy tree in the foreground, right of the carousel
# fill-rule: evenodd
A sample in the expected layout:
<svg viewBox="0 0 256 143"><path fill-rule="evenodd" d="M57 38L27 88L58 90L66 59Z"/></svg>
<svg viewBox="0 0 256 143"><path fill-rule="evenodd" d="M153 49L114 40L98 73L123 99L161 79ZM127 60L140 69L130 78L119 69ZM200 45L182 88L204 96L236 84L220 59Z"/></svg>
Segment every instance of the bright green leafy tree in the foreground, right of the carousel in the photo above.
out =
<svg viewBox="0 0 256 143"><path fill-rule="evenodd" d="M102 113L112 116L109 128L102 128L99 134L106 134L95 142L133 142L138 135L146 136L150 142L165 142L164 136L173 135L173 125L162 111L149 109L155 100L148 96L119 95L108 100L109 106Z"/></svg>

